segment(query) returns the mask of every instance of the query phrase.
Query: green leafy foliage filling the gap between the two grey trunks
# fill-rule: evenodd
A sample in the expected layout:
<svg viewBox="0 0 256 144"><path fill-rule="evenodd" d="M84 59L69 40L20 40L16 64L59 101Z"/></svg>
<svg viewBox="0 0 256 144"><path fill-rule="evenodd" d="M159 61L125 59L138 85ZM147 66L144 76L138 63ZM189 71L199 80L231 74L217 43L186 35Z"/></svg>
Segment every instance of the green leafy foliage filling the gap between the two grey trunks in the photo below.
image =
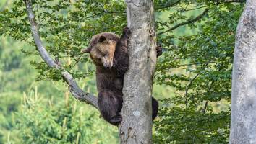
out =
<svg viewBox="0 0 256 144"><path fill-rule="evenodd" d="M155 143L228 143L230 114L223 105L229 107L231 98L234 34L243 4L179 1L172 8L171 19L158 22L159 30L193 19L186 17L191 13L187 9L201 9L199 14L209 10L207 19L179 28L196 32L169 31L159 37L166 53L155 80L173 86L175 94L163 100Z"/></svg>

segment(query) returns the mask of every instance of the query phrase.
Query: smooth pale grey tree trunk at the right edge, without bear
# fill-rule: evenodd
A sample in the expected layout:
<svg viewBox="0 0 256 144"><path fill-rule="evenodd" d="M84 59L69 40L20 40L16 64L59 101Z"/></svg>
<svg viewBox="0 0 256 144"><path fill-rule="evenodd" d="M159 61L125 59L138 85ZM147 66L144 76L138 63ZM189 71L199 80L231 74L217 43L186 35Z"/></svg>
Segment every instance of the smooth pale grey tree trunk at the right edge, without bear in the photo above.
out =
<svg viewBox="0 0 256 144"><path fill-rule="evenodd" d="M236 30L229 143L256 143L256 1L247 0Z"/></svg>

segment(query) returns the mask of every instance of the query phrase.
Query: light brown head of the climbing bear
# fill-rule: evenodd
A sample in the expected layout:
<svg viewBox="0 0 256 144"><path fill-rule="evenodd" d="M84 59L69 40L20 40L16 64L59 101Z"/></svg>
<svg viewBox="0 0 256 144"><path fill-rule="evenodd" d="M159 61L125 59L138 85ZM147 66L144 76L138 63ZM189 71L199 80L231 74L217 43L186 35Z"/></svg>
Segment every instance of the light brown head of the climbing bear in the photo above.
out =
<svg viewBox="0 0 256 144"><path fill-rule="evenodd" d="M119 36L111 32L103 32L93 36L88 48L83 49L82 53L90 53L90 58L97 66L111 68L113 66L116 42Z"/></svg>

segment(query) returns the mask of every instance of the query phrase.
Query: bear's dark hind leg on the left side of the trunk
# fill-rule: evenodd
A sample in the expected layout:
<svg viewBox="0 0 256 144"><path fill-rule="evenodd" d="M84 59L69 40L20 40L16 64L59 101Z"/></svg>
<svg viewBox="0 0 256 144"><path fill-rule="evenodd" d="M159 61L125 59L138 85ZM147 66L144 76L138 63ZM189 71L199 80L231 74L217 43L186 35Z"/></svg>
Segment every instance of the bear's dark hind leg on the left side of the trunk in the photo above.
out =
<svg viewBox="0 0 256 144"><path fill-rule="evenodd" d="M98 94L98 107L102 117L112 125L121 122L122 97L109 89L103 89Z"/></svg>

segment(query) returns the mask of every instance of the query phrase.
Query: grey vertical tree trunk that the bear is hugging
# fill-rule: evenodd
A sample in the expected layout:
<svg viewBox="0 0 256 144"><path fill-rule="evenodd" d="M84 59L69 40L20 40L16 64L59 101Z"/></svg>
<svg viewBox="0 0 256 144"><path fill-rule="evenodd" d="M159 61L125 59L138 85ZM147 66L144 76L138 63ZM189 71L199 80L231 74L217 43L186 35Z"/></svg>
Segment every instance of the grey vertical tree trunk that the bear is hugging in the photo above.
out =
<svg viewBox="0 0 256 144"><path fill-rule="evenodd" d="M152 143L152 84L155 71L153 0L126 0L129 39L129 71L124 77L121 143Z"/></svg>

